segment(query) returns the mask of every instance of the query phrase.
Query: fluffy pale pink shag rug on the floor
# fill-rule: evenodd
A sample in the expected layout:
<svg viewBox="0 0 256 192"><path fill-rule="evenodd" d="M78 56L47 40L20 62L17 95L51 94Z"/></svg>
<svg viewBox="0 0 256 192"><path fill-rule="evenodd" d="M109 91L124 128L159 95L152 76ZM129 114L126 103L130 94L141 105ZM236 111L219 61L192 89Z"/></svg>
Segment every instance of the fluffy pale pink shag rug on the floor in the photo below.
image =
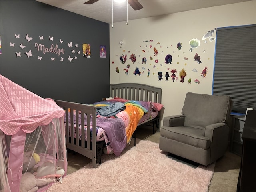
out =
<svg viewBox="0 0 256 192"><path fill-rule="evenodd" d="M103 155L97 168L90 163L47 191L207 192L214 165L192 168L168 158L158 143L140 140L118 157Z"/></svg>

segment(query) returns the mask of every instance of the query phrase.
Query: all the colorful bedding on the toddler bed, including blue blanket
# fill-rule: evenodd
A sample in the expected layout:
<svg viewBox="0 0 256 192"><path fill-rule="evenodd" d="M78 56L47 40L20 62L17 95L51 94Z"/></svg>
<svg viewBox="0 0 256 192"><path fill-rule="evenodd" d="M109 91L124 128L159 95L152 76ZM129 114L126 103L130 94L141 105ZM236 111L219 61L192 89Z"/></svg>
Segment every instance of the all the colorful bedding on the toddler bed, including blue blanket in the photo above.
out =
<svg viewBox="0 0 256 192"><path fill-rule="evenodd" d="M132 138L138 124L154 118L162 108L162 104L144 101L131 101L124 99L112 99L92 104L97 107L97 141L105 140L107 153L111 151L118 156L126 147ZM74 126L76 126L76 117L74 112ZM103 114L103 115L102 115ZM110 116L108 116L108 114ZM70 115L70 113L69 113ZM81 115L78 118L79 136L81 139ZM87 129L85 116L85 130ZM69 116L70 124L70 116ZM90 125L92 131L92 122ZM92 139L92 134L91 134ZM85 131L85 140L87 135Z"/></svg>

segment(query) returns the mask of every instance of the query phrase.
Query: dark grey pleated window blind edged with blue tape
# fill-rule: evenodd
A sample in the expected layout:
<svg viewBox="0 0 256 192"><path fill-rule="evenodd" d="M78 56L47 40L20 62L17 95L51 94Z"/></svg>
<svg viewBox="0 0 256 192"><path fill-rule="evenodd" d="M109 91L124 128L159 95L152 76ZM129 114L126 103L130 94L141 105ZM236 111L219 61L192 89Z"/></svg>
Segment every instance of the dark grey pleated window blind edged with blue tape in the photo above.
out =
<svg viewBox="0 0 256 192"><path fill-rule="evenodd" d="M256 25L217 28L213 95L229 95L232 112L256 110Z"/></svg>

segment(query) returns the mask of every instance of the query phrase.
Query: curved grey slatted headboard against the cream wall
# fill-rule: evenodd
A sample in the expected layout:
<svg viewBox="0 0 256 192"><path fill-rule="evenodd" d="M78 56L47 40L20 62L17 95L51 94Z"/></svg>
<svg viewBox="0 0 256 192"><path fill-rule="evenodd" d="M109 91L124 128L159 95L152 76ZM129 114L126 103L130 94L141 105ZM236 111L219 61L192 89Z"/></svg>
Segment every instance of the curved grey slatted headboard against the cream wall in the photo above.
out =
<svg viewBox="0 0 256 192"><path fill-rule="evenodd" d="M162 88L138 83L110 84L110 97L161 103Z"/></svg>

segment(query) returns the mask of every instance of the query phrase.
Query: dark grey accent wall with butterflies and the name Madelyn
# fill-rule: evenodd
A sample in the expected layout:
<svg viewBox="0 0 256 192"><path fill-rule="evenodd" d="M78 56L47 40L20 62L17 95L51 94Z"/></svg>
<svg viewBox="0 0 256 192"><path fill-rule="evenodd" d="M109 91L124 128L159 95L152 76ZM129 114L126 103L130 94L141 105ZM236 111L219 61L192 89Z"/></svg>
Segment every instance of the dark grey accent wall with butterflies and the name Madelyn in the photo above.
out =
<svg viewBox="0 0 256 192"><path fill-rule="evenodd" d="M0 35L0 74L16 84L44 98L85 104L110 96L109 24L37 1L1 0ZM82 44L90 44L90 58Z"/></svg>

